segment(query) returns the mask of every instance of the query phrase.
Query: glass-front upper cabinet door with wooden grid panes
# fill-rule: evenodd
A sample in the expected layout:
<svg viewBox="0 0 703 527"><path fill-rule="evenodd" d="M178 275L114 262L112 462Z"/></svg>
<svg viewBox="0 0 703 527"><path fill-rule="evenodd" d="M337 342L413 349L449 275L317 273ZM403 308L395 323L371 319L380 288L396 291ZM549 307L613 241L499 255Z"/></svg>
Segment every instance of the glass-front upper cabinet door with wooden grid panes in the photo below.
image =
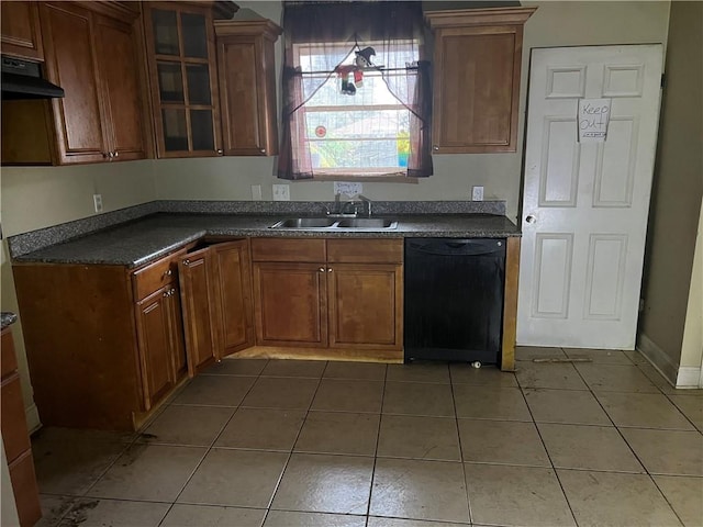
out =
<svg viewBox="0 0 703 527"><path fill-rule="evenodd" d="M144 5L158 157L222 155L210 9Z"/></svg>

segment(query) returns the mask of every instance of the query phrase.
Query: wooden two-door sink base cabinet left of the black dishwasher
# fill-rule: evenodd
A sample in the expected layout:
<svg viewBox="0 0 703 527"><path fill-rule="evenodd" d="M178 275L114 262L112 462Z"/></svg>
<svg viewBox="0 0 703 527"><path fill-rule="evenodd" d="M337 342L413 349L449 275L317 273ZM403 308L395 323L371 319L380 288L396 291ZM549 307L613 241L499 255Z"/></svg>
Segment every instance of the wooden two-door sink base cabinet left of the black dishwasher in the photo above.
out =
<svg viewBox="0 0 703 527"><path fill-rule="evenodd" d="M257 344L402 357L402 239L254 238Z"/></svg>

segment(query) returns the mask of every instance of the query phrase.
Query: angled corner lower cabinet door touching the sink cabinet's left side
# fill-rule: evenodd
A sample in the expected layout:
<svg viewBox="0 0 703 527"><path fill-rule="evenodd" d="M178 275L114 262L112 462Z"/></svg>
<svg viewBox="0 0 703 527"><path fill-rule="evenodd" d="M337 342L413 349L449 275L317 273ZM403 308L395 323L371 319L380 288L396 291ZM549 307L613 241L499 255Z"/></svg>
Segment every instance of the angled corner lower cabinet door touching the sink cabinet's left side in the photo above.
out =
<svg viewBox="0 0 703 527"><path fill-rule="evenodd" d="M215 307L222 355L254 346L252 265L247 239L217 244L214 253Z"/></svg>

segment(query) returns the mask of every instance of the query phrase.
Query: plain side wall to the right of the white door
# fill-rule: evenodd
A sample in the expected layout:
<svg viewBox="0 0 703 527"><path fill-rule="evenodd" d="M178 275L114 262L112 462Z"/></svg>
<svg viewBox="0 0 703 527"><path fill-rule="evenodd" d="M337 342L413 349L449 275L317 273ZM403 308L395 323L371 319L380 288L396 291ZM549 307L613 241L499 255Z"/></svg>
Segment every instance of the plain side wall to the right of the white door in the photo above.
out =
<svg viewBox="0 0 703 527"><path fill-rule="evenodd" d="M700 272L693 261L701 250L703 197L702 33L703 3L672 2L638 338L643 352L671 381L687 385L698 384L701 368L700 344L698 350L684 347L683 336L701 296L692 284Z"/></svg>

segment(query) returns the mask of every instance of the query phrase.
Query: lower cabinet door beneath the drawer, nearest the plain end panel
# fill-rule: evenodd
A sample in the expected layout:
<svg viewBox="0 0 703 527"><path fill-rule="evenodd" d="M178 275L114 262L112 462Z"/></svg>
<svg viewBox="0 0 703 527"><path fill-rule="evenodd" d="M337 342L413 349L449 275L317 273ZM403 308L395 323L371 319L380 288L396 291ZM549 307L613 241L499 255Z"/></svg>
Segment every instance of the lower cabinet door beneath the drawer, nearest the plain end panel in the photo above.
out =
<svg viewBox="0 0 703 527"><path fill-rule="evenodd" d="M146 411L150 410L176 382L167 302L171 289L161 288L137 303L137 335Z"/></svg>

